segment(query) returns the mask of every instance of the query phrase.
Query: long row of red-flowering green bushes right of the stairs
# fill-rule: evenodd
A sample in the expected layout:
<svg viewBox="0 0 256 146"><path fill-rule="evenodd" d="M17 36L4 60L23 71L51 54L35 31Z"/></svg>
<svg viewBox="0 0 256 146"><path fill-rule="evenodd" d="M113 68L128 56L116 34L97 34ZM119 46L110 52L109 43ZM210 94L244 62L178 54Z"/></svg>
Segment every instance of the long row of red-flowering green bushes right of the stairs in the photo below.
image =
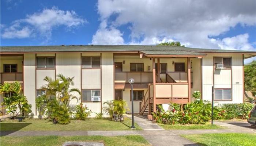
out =
<svg viewBox="0 0 256 146"><path fill-rule="evenodd" d="M200 91L193 93L195 101L185 104L170 103L171 110L165 111L162 105L153 114L154 122L162 124L203 124L211 120L211 103L200 99ZM246 119L253 104L222 104L214 107L214 119Z"/></svg>

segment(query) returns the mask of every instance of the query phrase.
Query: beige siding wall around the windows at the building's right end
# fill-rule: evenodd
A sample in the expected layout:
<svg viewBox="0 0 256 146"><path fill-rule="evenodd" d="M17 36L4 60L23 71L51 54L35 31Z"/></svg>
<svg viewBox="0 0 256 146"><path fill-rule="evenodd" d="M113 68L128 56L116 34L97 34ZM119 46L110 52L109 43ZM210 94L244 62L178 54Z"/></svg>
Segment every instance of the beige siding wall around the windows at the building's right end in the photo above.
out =
<svg viewBox="0 0 256 146"><path fill-rule="evenodd" d="M208 54L203 57L202 84L203 100L211 101L211 87L213 85L213 57L232 57L232 101L218 101L218 103L242 103L243 102L243 66L242 54ZM225 75L226 71L221 70L220 74ZM216 76L215 76L216 77ZM214 82L224 86L230 81L230 76L218 77ZM228 85L230 86L230 85Z"/></svg>

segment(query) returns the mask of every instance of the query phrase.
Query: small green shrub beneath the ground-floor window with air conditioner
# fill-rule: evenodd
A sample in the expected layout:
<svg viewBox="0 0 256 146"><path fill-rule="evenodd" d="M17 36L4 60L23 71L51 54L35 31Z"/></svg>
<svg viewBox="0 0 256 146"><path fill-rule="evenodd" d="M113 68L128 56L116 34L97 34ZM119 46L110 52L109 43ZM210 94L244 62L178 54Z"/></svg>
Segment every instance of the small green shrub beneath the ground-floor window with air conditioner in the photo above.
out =
<svg viewBox="0 0 256 146"><path fill-rule="evenodd" d="M79 103L79 105L76 105L75 117L77 120L85 120L90 114L91 114L91 110L89 111L89 108L86 107L86 105L84 107L82 103Z"/></svg>

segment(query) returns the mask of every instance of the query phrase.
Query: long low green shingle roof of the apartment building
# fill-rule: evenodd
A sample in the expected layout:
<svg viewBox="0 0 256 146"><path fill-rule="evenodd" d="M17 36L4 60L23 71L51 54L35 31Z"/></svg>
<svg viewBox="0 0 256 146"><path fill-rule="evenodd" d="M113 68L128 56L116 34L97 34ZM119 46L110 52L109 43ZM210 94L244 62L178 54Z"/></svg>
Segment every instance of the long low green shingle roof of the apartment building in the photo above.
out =
<svg viewBox="0 0 256 146"><path fill-rule="evenodd" d="M148 55L205 55L207 53L256 53L256 51L199 49L181 46L76 45L76 46L1 46L1 53L140 51Z"/></svg>

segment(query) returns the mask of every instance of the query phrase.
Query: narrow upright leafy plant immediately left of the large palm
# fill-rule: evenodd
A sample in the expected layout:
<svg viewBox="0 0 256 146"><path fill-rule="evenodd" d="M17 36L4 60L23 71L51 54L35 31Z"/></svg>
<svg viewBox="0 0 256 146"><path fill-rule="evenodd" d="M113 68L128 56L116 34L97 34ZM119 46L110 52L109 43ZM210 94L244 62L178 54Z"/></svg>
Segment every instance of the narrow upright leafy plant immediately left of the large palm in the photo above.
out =
<svg viewBox="0 0 256 146"><path fill-rule="evenodd" d="M42 119L42 116L45 114L45 111L47 110L47 98L45 93L35 98L35 107L38 110L39 119Z"/></svg>

